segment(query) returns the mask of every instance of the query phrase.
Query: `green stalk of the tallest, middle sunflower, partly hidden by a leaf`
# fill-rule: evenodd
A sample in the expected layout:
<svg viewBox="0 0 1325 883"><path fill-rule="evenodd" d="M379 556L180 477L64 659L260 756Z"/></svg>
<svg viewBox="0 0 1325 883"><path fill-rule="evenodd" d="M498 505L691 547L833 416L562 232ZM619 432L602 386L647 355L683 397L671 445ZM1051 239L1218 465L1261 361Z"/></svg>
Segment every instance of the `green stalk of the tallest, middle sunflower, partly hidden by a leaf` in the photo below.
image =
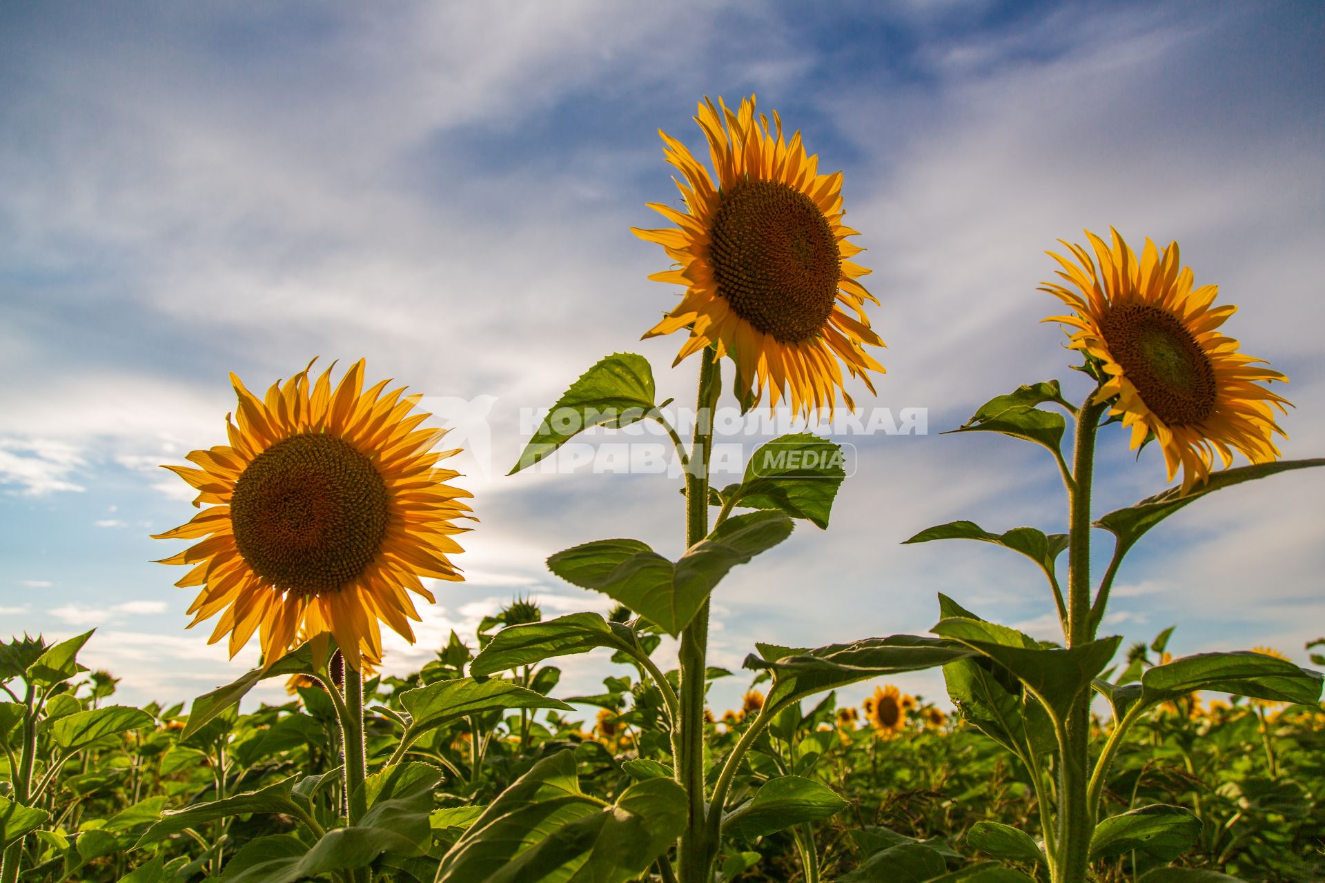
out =
<svg viewBox="0 0 1325 883"><path fill-rule="evenodd" d="M709 535L709 449L713 445L713 408L721 391L719 373L713 353L705 349L700 361L694 442L685 470L686 548ZM689 817L677 855L680 883L709 883L717 853L717 835L710 842L704 800L704 687L708 646L709 602L705 601L694 620L681 631L681 735L677 740L676 776L686 793Z"/></svg>

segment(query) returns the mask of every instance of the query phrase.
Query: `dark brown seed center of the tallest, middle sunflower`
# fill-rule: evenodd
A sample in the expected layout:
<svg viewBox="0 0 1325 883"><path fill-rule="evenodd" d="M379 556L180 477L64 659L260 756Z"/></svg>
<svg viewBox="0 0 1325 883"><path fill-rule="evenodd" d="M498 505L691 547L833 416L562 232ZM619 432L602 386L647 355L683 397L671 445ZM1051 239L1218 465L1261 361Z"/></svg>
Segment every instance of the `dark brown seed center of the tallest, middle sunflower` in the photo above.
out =
<svg viewBox="0 0 1325 883"><path fill-rule="evenodd" d="M722 195L709 261L737 315L779 343L820 332L837 298L841 257L814 200L778 181L747 181Z"/></svg>

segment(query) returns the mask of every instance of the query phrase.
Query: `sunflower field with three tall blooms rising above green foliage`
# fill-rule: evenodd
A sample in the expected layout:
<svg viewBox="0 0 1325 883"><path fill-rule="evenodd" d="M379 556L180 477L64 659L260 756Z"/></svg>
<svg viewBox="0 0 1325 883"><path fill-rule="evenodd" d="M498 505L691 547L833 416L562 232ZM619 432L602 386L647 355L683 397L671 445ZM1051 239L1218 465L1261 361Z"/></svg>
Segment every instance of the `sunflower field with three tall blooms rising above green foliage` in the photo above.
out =
<svg viewBox="0 0 1325 883"><path fill-rule="evenodd" d="M225 443L167 466L197 511L155 536L160 563L187 568L171 572L191 626L212 629L199 641L231 657L256 641L261 663L187 706L139 708L115 704L114 673L80 663L91 631L0 645L0 883L1325 879L1321 674L1269 647L1175 657L1173 629L1134 646L1108 634L1114 579L1151 528L1219 506L1204 500L1218 490L1325 465L1281 457L1288 377L1223 334L1235 308L1177 242L1063 241L1041 291L1065 312L1044 320L1086 395L1059 379L990 391L950 428L1041 449L1067 530L954 520L896 537L1028 559L1026 592L1061 639L941 593L928 634L767 635L741 670L712 665L719 582L794 530L829 530L848 479L840 445L795 432L719 487L717 409L853 409L847 387L874 392L884 342L841 172L753 95L705 99L694 122L710 165L662 134L681 207L651 204L670 226L633 230L664 249L651 278L680 286L641 328L681 335L672 368L697 373L693 425L669 418L647 359L613 352L522 440L509 479L586 430L656 424L678 465L659 494L684 495L684 553L620 537L547 549L549 571L610 614L549 617L517 597L472 643L452 631L419 671L384 674L383 626L415 643L439 582L464 580L464 534L485 527L448 469L457 449L421 396L370 384L364 360L310 361L260 392L232 375L211 440ZM1112 424L1162 451L1169 486L1100 512ZM602 692L570 695L558 661L590 651ZM924 670L946 695L893 683ZM268 679L288 702L246 699ZM742 682L739 708L712 704L723 679Z"/></svg>

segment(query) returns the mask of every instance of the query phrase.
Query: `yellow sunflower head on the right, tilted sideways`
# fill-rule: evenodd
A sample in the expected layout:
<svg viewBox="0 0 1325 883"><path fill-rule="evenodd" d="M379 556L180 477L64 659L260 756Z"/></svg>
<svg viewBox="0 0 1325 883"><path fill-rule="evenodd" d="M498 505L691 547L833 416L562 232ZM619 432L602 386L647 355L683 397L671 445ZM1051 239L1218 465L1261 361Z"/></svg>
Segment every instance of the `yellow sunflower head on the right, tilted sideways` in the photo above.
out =
<svg viewBox="0 0 1325 883"><path fill-rule="evenodd" d="M1211 306L1218 286L1192 290L1191 269L1181 266L1177 242L1161 253L1146 240L1137 261L1117 230L1112 248L1094 233L1085 234L1098 273L1080 245L1063 241L1076 262L1049 252L1063 266L1059 275L1076 291L1056 282L1040 290L1075 315L1045 322L1077 328L1069 346L1098 363L1106 380L1097 400L1112 400L1109 413L1132 429L1133 450L1155 438L1169 481L1182 466L1183 494L1210 475L1216 453L1226 469L1234 449L1253 463L1276 459L1271 437L1284 430L1271 405L1287 413L1289 402L1260 383L1288 383L1288 377L1255 367L1264 360L1238 352L1238 342L1219 334L1238 307Z"/></svg>

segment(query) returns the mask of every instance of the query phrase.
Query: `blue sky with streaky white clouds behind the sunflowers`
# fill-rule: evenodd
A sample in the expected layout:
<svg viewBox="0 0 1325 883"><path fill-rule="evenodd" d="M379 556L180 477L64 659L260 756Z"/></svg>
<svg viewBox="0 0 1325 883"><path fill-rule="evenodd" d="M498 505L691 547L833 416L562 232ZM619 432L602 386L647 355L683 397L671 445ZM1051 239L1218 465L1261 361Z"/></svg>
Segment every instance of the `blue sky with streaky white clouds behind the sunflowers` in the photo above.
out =
<svg viewBox="0 0 1325 883"><path fill-rule="evenodd" d="M1035 287L1055 240L1112 224L1178 240L1242 307L1226 331L1292 377L1284 454L1321 455L1322 26L1312 3L7 7L0 633L98 626L85 655L127 700L252 663L186 633L191 590L150 563L175 547L147 534L192 512L158 463L224 441L227 372L265 387L314 355L470 402L466 432L490 443L490 471L466 461L469 579L390 669L513 593L603 609L543 559L620 535L677 555L680 496L649 475L504 478L518 416L620 349L692 400L694 361L668 368L680 339L639 342L676 294L645 279L666 259L628 228L657 226L644 203L674 195L656 130L694 147L696 101L757 93L844 171L889 346L869 404L926 408L929 433L848 440L831 528L798 527L719 586L714 661L924 633L935 592L1048 637L1022 560L898 545L958 518L1061 530L1043 451L939 430L1020 383L1084 395ZM1110 432L1097 481L1106 511L1163 473ZM1186 510L1129 557L1109 627L1305 661L1325 633L1322 492L1298 473ZM566 692L607 674L563 667ZM937 673L898 683L941 694Z"/></svg>

